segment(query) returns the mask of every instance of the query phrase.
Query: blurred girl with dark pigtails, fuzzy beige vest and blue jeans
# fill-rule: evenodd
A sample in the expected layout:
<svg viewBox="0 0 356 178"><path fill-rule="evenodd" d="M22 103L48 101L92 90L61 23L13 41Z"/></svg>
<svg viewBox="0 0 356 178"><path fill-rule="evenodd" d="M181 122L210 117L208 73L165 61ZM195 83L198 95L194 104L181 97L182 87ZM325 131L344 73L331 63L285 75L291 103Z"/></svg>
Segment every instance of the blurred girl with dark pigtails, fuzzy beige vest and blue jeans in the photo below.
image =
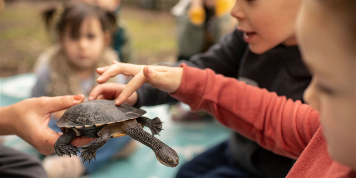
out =
<svg viewBox="0 0 356 178"><path fill-rule="evenodd" d="M46 24L57 20L58 13L52 8L43 13ZM64 6L55 22L58 44L42 53L37 65L37 83L32 90L32 97L59 95L88 95L96 85L95 68L118 61L117 53L109 47L111 31L115 26L115 16L99 6L72 2ZM121 75L112 82L125 83ZM49 127L60 132L55 122L64 111L52 114ZM133 150L134 142L129 136L110 139L96 153L96 160L82 163L79 157L46 157L43 160L50 178L79 177L84 173L93 173L108 163L115 155L127 155L127 149ZM125 149L126 148L126 149ZM60 165L60 166L59 166Z"/></svg>

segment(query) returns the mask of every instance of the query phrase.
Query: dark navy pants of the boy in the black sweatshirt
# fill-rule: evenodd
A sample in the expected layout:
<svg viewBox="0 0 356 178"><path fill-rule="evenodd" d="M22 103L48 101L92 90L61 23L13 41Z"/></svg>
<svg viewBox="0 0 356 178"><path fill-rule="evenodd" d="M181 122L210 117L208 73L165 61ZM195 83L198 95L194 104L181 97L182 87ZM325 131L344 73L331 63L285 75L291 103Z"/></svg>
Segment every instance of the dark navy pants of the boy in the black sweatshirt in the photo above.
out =
<svg viewBox="0 0 356 178"><path fill-rule="evenodd" d="M224 141L183 164L176 178L258 178L258 176L244 171L234 161L228 141Z"/></svg>

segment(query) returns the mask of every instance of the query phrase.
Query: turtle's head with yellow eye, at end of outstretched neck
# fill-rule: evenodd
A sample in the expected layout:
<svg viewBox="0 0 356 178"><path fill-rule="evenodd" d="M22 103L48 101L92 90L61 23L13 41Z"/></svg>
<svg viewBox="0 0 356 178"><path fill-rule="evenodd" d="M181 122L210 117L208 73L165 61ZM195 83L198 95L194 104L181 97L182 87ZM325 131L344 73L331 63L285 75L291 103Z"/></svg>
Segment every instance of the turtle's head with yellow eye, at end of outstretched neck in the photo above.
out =
<svg viewBox="0 0 356 178"><path fill-rule="evenodd" d="M176 167L179 163L177 152L168 146L159 149L156 153L156 158L160 163L168 167Z"/></svg>

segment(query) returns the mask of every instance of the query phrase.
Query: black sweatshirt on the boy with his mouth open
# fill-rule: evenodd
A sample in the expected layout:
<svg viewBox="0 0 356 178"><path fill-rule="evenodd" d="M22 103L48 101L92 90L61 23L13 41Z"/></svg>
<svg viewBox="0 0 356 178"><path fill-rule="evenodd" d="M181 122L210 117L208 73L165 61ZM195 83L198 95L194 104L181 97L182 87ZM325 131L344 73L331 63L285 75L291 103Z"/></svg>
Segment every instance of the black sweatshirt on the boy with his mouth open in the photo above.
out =
<svg viewBox="0 0 356 178"><path fill-rule="evenodd" d="M189 61L181 60L176 66L186 63L201 69L210 68L217 74L243 80L278 95L303 100L303 92L311 76L302 62L298 47L278 45L263 54L255 54L248 49L242 35L242 32L235 30L209 51L196 54ZM137 93L136 107L177 101L149 85L142 86ZM294 163L293 159L265 150L236 132L232 133L229 146L241 167L261 177L285 177Z"/></svg>

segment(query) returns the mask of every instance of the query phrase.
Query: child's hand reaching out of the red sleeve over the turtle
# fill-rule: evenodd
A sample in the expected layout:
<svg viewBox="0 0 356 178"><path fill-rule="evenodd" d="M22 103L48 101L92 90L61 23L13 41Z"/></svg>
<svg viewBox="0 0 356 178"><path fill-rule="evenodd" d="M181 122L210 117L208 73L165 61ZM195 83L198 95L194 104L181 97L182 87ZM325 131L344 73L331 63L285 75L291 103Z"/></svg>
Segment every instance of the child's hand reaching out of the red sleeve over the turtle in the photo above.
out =
<svg viewBox="0 0 356 178"><path fill-rule="evenodd" d="M114 63L111 66L106 66L96 69L96 72L101 76L96 80L98 83L106 82L110 77L118 74L133 76L126 87L118 90L119 96L116 100L116 105L120 105L126 101L143 83L149 82L153 87L162 91L173 93L178 90L182 81L183 68L167 67L167 66L145 66L127 63ZM104 90L111 90L106 88ZM112 93L113 91L100 91L100 93ZM136 99L137 101L137 99Z"/></svg>

